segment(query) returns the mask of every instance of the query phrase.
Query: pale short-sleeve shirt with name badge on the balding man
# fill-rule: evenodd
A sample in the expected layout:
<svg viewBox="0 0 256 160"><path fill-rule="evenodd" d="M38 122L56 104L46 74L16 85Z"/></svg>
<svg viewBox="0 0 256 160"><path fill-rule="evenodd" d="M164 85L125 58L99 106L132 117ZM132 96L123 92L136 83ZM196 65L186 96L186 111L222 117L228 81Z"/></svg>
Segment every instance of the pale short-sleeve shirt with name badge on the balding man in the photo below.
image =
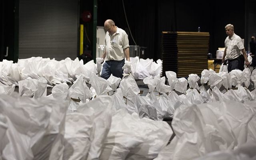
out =
<svg viewBox="0 0 256 160"><path fill-rule="evenodd" d="M128 35L121 28L116 27L116 33L112 36L109 32L106 33L106 61L108 60L123 60L124 49L129 47Z"/></svg>

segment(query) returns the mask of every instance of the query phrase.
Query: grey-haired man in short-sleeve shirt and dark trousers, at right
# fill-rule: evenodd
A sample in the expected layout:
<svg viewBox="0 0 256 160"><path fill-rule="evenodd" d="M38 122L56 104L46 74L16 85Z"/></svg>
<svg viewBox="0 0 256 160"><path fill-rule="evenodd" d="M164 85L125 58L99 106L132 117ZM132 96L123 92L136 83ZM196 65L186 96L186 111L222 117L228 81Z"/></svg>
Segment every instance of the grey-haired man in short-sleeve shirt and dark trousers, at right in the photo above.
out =
<svg viewBox="0 0 256 160"><path fill-rule="evenodd" d="M225 40L222 63L225 59L228 60L228 72L234 69L244 70L244 61L246 66L250 63L244 50L242 39L234 33L234 26L232 24L226 25L225 29L228 36Z"/></svg>

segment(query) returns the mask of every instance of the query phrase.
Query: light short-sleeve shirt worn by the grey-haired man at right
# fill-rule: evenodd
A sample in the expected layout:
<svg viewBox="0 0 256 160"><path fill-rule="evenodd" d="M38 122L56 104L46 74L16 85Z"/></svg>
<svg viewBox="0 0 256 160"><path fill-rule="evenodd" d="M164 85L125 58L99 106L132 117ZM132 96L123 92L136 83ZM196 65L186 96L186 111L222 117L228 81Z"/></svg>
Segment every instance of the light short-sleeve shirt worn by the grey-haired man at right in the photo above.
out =
<svg viewBox="0 0 256 160"><path fill-rule="evenodd" d="M227 37L225 40L226 58L229 60L235 59L240 56L244 45L240 36L233 34L232 37Z"/></svg>

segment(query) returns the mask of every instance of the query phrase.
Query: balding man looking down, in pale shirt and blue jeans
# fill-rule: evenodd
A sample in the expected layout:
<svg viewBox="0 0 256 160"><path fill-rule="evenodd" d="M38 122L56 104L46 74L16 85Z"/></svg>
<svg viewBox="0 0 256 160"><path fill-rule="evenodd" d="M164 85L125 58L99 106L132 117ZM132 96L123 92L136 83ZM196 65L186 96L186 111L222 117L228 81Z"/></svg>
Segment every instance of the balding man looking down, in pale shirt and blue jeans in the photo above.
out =
<svg viewBox="0 0 256 160"><path fill-rule="evenodd" d="M130 61L129 40L124 30L115 26L113 20L106 20L104 28L107 30L105 37L106 48L102 58L106 62L102 66L101 77L108 79L111 74L122 78L124 66L124 57Z"/></svg>

